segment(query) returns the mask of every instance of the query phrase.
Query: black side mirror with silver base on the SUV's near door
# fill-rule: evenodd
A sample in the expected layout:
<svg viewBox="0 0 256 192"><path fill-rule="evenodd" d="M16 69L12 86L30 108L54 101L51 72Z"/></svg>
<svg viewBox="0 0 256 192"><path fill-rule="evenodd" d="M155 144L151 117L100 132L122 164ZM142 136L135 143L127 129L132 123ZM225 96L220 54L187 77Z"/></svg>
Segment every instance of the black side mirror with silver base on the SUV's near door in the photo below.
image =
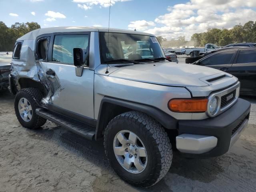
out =
<svg viewBox="0 0 256 192"><path fill-rule="evenodd" d="M82 65L85 63L86 60L86 49L74 48L73 54L74 66L76 66L76 76L81 77L84 69Z"/></svg>

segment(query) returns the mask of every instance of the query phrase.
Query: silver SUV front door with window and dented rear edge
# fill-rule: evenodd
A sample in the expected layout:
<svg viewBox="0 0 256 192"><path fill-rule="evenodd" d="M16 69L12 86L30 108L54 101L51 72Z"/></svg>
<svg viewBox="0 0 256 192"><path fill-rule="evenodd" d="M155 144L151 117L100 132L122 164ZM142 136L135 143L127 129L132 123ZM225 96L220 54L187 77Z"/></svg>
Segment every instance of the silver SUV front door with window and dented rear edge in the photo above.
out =
<svg viewBox="0 0 256 192"><path fill-rule="evenodd" d="M82 76L76 76L73 58L73 48L89 52L90 33L62 33L50 38L48 61L40 62L51 87L49 103L94 118L94 70L85 65Z"/></svg>

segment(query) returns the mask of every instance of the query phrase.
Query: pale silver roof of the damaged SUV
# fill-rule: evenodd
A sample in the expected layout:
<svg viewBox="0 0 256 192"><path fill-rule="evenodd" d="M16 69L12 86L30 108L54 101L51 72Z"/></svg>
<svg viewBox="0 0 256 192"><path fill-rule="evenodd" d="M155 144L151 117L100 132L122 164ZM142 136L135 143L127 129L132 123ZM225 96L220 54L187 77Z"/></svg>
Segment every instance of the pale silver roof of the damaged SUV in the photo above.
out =
<svg viewBox="0 0 256 192"><path fill-rule="evenodd" d="M36 39L38 36L43 35L43 34L60 33L60 32L108 32L108 28L84 27L84 26L40 28L40 29L36 29L31 32L28 32L24 36L18 38L18 41L32 40L32 39ZM123 29L114 29L114 28L110 28L109 32L154 36L153 34L148 34L148 33L144 33L144 32L123 30Z"/></svg>

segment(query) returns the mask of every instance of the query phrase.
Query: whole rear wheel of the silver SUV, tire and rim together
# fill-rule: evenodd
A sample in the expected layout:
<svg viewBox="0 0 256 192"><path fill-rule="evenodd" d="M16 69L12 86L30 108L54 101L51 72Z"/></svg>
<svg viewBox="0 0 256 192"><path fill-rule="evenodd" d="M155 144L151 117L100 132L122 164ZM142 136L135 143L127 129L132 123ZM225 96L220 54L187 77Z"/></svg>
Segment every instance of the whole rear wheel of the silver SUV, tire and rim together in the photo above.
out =
<svg viewBox="0 0 256 192"><path fill-rule="evenodd" d="M45 124L46 119L38 116L35 112L38 105L34 98L40 101L42 97L42 93L36 88L25 88L16 94L14 109L23 127L36 129Z"/></svg>

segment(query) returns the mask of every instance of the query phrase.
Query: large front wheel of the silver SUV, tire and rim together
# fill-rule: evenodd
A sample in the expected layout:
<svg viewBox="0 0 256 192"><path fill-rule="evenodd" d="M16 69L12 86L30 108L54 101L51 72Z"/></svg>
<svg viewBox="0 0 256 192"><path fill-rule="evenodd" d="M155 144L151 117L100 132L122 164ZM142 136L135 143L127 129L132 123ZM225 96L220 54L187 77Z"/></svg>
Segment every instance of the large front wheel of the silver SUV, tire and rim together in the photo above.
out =
<svg viewBox="0 0 256 192"><path fill-rule="evenodd" d="M112 119L104 134L104 147L116 173L142 188L160 181L172 163L172 146L164 128L141 112Z"/></svg>

